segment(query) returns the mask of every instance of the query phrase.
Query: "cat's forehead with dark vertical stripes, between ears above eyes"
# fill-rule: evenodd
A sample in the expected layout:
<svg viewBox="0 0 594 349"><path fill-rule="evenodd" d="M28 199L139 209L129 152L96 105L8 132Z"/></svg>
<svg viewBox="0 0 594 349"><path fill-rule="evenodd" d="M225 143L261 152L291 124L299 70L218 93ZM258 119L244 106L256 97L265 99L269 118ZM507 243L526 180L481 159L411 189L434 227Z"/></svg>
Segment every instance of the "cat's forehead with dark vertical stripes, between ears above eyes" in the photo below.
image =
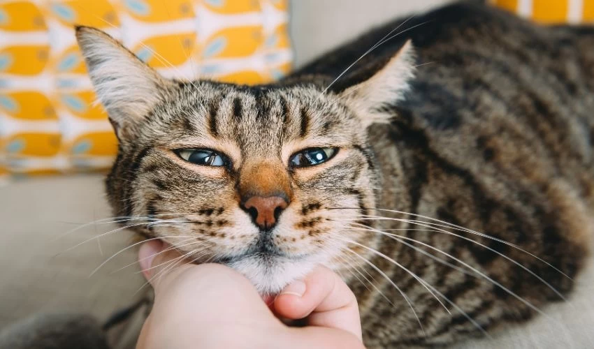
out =
<svg viewBox="0 0 594 349"><path fill-rule="evenodd" d="M310 141L312 147L349 143L352 140L347 140L347 135L356 128L349 120L353 116L340 103L300 87L250 88L202 82L197 87L182 86L180 94L175 103L183 101L179 105L182 112L175 112L191 115L189 122L194 125L185 130L187 133L234 142L243 153L280 156L283 144L300 141Z"/></svg>

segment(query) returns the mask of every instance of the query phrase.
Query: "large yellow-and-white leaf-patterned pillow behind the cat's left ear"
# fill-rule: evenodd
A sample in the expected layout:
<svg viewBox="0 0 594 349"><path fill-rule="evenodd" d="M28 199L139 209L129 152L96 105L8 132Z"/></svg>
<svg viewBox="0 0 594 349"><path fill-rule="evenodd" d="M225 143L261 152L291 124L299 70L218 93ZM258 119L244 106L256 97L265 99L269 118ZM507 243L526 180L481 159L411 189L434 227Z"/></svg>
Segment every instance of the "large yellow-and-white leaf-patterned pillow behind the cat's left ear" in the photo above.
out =
<svg viewBox="0 0 594 349"><path fill-rule="evenodd" d="M167 77L257 84L291 68L288 0L0 1L0 175L106 168L117 141L73 24Z"/></svg>

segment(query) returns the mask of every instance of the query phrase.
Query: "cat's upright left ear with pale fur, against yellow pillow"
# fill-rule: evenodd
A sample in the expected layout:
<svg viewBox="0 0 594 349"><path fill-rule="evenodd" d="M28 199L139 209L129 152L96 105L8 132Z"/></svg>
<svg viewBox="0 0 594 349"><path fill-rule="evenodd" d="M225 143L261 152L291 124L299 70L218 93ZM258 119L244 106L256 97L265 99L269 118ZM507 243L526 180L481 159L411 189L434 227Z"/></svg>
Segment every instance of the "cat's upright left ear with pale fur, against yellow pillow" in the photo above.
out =
<svg viewBox="0 0 594 349"><path fill-rule="evenodd" d="M99 29L76 27L76 39L97 98L120 138L122 128L141 121L171 82Z"/></svg>

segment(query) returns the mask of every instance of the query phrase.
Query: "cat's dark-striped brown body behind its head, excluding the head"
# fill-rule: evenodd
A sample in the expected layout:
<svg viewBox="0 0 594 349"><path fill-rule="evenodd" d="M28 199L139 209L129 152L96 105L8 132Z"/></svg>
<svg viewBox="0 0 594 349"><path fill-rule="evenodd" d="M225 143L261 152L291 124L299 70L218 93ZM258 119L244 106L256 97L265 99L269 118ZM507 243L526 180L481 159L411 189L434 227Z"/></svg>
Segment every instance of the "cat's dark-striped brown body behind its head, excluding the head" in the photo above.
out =
<svg viewBox="0 0 594 349"><path fill-rule="evenodd" d="M315 73L332 81L401 22L354 40L296 75ZM348 87L363 80L361 75L369 76L365 65L374 70L412 39L421 64L412 88L403 102L388 107L395 121L370 131L384 174L377 207L484 232L575 276L594 237L594 28L537 27L468 4L414 18L402 28L417 24L377 47L361 59L363 68L355 66L352 76L337 82ZM405 190L395 181L404 181ZM419 219L386 211L377 214ZM397 221L380 226L423 228ZM393 232L451 253L535 306L559 299L535 276L482 246L440 232ZM520 262L560 292L572 287L570 279L533 256L492 239L453 232ZM485 329L533 313L484 278L464 276L389 237L374 247L435 286ZM372 262L384 266L384 271L389 265L379 256ZM383 279L369 269L376 280ZM396 307L354 281L368 346L449 343L476 331L442 299L455 315L445 312L403 269L391 266L387 274L410 296L426 337L387 281L382 281L381 290Z"/></svg>

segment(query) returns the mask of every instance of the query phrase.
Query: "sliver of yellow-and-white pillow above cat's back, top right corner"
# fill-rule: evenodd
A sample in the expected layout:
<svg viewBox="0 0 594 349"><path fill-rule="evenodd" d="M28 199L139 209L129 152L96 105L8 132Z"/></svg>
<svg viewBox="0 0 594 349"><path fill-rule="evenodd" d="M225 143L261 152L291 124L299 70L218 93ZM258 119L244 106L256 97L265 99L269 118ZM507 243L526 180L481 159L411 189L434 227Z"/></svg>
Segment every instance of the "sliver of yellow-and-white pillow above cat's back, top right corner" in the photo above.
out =
<svg viewBox="0 0 594 349"><path fill-rule="evenodd" d="M594 0L491 0L496 6L544 24L594 22Z"/></svg>

